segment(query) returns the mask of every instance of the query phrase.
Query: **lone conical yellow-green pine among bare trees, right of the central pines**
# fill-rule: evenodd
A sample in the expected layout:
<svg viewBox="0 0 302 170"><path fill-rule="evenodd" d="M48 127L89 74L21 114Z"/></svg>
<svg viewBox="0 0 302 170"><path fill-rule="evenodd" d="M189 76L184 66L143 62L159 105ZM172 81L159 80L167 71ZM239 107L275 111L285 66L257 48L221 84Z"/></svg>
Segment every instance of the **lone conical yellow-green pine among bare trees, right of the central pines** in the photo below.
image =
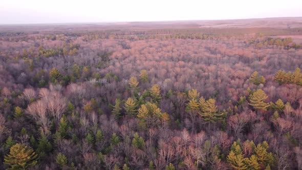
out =
<svg viewBox="0 0 302 170"><path fill-rule="evenodd" d="M266 111L269 107L269 103L266 103L267 95L261 89L258 89L249 96L249 104L252 105L256 110Z"/></svg>

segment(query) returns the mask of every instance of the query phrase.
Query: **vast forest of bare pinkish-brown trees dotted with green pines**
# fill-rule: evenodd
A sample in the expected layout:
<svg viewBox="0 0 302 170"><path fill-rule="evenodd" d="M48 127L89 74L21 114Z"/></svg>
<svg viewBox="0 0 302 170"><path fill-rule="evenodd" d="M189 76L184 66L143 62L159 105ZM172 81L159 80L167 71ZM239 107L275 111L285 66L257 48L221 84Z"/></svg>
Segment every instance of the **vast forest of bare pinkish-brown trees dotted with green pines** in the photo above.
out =
<svg viewBox="0 0 302 170"><path fill-rule="evenodd" d="M141 25L0 27L0 169L302 169L302 27Z"/></svg>

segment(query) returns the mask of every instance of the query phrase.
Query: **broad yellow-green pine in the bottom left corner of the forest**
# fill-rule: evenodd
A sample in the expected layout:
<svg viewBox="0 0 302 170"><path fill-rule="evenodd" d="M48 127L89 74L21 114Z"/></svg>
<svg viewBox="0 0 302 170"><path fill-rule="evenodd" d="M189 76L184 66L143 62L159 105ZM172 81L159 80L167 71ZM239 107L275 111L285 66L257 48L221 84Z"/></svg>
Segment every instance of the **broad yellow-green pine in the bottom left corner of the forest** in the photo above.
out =
<svg viewBox="0 0 302 170"><path fill-rule="evenodd" d="M4 157L4 163L11 166L10 169L27 169L35 166L38 155L33 149L24 144L17 143L10 148L10 153Z"/></svg>

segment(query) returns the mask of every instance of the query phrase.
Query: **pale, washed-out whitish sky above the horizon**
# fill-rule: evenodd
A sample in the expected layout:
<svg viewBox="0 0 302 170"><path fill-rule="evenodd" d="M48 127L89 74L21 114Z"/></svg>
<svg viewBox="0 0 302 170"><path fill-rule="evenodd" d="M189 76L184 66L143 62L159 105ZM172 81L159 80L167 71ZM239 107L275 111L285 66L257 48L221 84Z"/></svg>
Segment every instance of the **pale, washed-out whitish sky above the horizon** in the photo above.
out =
<svg viewBox="0 0 302 170"><path fill-rule="evenodd" d="M302 0L2 0L0 24L217 20L302 16Z"/></svg>

